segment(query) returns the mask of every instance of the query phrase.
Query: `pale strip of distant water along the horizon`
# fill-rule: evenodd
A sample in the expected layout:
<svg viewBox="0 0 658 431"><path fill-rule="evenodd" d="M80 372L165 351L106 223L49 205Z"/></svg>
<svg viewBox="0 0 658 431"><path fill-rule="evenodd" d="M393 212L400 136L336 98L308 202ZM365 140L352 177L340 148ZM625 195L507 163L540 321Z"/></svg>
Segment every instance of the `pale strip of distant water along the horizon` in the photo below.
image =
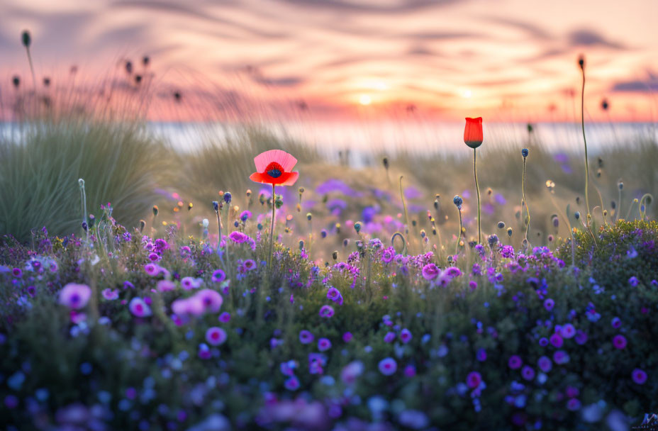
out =
<svg viewBox="0 0 658 431"><path fill-rule="evenodd" d="M464 123L434 121L289 121L263 123L277 138L289 138L316 147L328 159L350 152L350 162L357 166L374 154L393 155L400 150L411 154L461 154ZM194 150L203 142L223 142L240 135L241 125L223 123L147 124L150 133L172 142L181 150ZM18 127L0 124L0 134L16 136ZM658 140L654 123L586 123L588 148L593 155L610 146L628 146L642 140ZM579 123L536 123L532 134L525 123L484 123L482 152L498 145L543 145L555 151L580 152L582 132ZM529 141L531 140L531 141Z"/></svg>

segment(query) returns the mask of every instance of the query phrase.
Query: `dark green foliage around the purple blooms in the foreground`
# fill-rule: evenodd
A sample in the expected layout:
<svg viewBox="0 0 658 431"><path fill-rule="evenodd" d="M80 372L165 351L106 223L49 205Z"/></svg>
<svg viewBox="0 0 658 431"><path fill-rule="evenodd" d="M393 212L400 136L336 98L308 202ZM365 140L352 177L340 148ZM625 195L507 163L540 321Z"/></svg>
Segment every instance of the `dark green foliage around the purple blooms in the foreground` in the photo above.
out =
<svg viewBox="0 0 658 431"><path fill-rule="evenodd" d="M247 233L252 223L246 223ZM303 252L277 244L270 271L263 263L267 244L257 242L252 250L249 242L229 242L228 262L227 254L174 230L167 233L171 247L158 252L157 265L168 275L149 276L144 265L150 262L145 250L150 240L125 234L116 225L107 237L92 239L91 249L71 238L60 244L45 237L39 238L38 254L28 255L16 243L0 247L9 265L0 277L11 286L1 291L6 354L0 372L11 377L20 371L25 377L20 387L3 389L27 400L47 388L50 398L40 406L47 421L79 403L113 412L103 420L113 428L135 427L140 420L152 427L172 420L189 427L221 413L235 427L251 427L258 418L260 423L273 421L269 427L274 429L293 423L310 430L347 418L371 422L376 416L372 406L383 401L380 420L391 427L403 427L402 413L416 410L443 429L508 429L540 421L551 430L598 430L613 410L636 421L658 408L658 354L649 342L658 337L654 222L620 221L601 230L596 245L591 236L576 233L576 267L565 264L570 262L569 245L555 254L538 247L513 257L508 249L487 247L485 259L457 259L463 274L445 284L421 275L423 265L441 265L437 257L419 254L386 264L377 242L368 242L363 252L346 250L352 251L346 262L325 268L316 267ZM111 255L101 252L110 244L115 244ZM254 259L255 269L241 269L247 259ZM33 267L35 261L44 268L57 262L58 269L26 269L18 278L7 272L28 262ZM472 272L474 263L481 275ZM212 281L218 268L230 281ZM370 279L363 276L368 269ZM223 293L221 312L230 313L228 323L218 322L218 313L172 319L174 301L196 293L182 289L187 276ZM637 277L637 286L630 284L631 276ZM176 289L158 292L163 278L174 281ZM97 300L80 310L87 318L78 323L56 303L61 287L71 281L93 286ZM134 289L124 287L125 281ZM29 293L30 285L36 286L35 293ZM342 301L328 298L330 287L340 291ZM104 289L116 289L119 298L104 298ZM150 298L153 315L131 314L127 303L133 298ZM547 299L554 308L546 306ZM325 305L333 307L333 317L318 314ZM92 317L95 308L101 320ZM611 325L614 318L619 327ZM542 345L542 338L562 334L558 327L567 325L573 325L575 337L564 335L562 346ZM207 343L211 326L223 328L228 337L220 346L206 347L210 357L203 359L200 346ZM408 342L401 340L403 328L411 332ZM311 331L314 342L302 344L301 330ZM343 339L346 332L352 340ZM388 332L395 334L393 342L384 340ZM616 335L627 340L624 349L613 346ZM320 337L332 347L322 352L322 370L314 374L309 355L318 353ZM486 359L479 356L482 349ZM568 361L558 364L557 352L566 353ZM511 369L513 355L535 376L525 379L521 369ZM537 366L543 356L552 360L550 371ZM398 366L391 376L378 369L386 357ZM353 362L360 362L363 371L350 383L342 373ZM288 376L281 367L289 364L294 364L301 385L296 391L284 386ZM633 381L634 369L647 371L644 384ZM476 391L466 386L472 371L486 386ZM294 411L300 417L311 415L303 408L307 401L319 402L319 416L306 418L316 422L268 413L268 394L276 396L274 405L281 409L284 405L277 403L297 400L302 407ZM571 399L575 401L569 404ZM340 417L328 419L327 412L337 404ZM595 409L603 419L584 421L585 408ZM25 420L30 419L22 404L2 419Z"/></svg>

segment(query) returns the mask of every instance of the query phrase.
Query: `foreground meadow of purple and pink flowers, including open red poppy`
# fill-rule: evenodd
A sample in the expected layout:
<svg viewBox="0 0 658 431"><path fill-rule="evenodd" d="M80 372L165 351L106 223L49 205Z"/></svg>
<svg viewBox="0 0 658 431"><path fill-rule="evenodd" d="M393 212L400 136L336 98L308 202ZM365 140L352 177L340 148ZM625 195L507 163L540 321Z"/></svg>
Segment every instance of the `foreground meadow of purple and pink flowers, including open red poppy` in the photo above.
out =
<svg viewBox="0 0 658 431"><path fill-rule="evenodd" d="M295 163L256 157L251 179L274 194L235 211L221 192L192 235L157 206L127 228L106 203L75 234L4 237L4 428L625 430L658 407L648 203L550 247L511 245L503 222L439 242L432 215L429 233L314 233L312 213L272 223ZM307 223L299 245L281 242ZM332 236L340 250L309 256Z"/></svg>

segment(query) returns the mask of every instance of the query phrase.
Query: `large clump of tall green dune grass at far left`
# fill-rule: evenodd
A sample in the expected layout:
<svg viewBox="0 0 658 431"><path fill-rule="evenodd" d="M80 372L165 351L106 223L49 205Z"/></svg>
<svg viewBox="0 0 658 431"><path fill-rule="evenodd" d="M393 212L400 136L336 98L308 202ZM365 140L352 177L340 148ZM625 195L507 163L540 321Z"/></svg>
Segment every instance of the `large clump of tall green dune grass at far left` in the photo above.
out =
<svg viewBox="0 0 658 431"><path fill-rule="evenodd" d="M41 226L57 235L79 232L80 178L89 213L111 202L120 223L137 225L170 172L169 147L140 123L69 118L16 127L13 138L0 140L0 234L21 241Z"/></svg>

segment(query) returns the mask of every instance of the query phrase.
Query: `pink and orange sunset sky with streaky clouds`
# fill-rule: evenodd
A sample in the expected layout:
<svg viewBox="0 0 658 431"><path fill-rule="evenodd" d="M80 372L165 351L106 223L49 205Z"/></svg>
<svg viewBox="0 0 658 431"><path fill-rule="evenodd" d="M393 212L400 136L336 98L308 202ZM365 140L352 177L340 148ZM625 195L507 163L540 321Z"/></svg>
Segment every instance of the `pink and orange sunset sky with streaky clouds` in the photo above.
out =
<svg viewBox="0 0 658 431"><path fill-rule="evenodd" d="M75 65L80 88L147 87L155 118L177 92L186 118L572 121L583 54L590 119L653 121L657 16L656 0L3 0L0 91L30 88L29 29L39 91Z"/></svg>

